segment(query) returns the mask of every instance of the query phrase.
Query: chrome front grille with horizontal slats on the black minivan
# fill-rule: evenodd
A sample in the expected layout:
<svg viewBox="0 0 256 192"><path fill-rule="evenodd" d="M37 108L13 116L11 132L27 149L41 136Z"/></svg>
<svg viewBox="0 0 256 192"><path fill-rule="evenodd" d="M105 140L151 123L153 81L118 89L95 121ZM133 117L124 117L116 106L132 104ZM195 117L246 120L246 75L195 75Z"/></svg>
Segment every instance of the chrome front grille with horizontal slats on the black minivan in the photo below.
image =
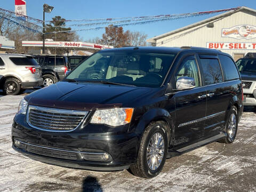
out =
<svg viewBox="0 0 256 192"><path fill-rule="evenodd" d="M27 122L46 131L73 131L83 121L88 111L29 106Z"/></svg>

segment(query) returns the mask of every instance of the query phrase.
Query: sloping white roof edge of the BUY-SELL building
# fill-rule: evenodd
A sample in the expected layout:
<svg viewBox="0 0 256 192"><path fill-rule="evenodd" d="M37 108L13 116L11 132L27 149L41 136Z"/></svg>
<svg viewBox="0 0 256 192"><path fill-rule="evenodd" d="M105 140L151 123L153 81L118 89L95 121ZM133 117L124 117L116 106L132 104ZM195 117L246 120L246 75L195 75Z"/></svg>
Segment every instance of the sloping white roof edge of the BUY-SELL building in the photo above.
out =
<svg viewBox="0 0 256 192"><path fill-rule="evenodd" d="M242 6L242 7L239 7L239 9L237 9L237 10L225 12L225 13L222 13L222 14L218 14L218 15L216 15L214 17L209 18L209 19L205 19L205 20L193 23L191 25L188 25L188 26L185 26L185 27L182 27L182 28L179 28L179 29L172 30L172 31L167 32L165 34L158 35L158 36L155 36L153 38L147 39L147 42L149 42L149 43L156 43L156 40L158 40L158 39L161 39L161 38L164 38L164 37L167 37L167 36L179 33L180 31L184 31L184 30L187 30L187 29L190 29L190 28L193 28L193 27L197 27L197 26L203 25L205 23L209 23L211 21L215 21L215 20L220 19L220 18L228 17L228 16L230 16L230 15L232 15L234 13L241 12L241 11L256 14L256 10L251 9L249 7Z"/></svg>

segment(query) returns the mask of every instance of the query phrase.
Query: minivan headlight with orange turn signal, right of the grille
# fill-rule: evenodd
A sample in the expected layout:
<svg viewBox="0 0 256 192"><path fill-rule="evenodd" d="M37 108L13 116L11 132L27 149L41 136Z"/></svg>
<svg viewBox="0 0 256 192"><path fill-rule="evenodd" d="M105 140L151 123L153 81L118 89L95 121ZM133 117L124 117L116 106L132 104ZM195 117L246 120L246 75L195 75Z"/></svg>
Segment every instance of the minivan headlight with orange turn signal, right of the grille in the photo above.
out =
<svg viewBox="0 0 256 192"><path fill-rule="evenodd" d="M125 125L131 122L133 108L116 108L95 111L91 123L110 126Z"/></svg>

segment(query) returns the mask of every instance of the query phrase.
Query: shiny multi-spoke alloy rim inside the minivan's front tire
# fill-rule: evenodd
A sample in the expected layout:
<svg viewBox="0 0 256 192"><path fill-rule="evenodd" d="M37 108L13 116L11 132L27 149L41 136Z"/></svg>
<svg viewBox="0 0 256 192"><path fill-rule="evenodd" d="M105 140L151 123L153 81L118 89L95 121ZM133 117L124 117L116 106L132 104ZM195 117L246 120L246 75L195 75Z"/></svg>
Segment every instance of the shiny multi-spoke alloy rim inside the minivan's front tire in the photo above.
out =
<svg viewBox="0 0 256 192"><path fill-rule="evenodd" d="M159 132L155 133L147 147L147 163L150 170L156 170L164 157L164 138Z"/></svg>

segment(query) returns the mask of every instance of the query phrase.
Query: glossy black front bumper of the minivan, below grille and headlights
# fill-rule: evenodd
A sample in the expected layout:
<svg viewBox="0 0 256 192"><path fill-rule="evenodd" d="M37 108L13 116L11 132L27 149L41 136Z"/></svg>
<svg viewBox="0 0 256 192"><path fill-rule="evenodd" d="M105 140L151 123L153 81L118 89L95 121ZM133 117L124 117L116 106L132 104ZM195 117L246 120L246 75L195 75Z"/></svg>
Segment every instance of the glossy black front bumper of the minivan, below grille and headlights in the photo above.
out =
<svg viewBox="0 0 256 192"><path fill-rule="evenodd" d="M115 171L128 169L130 164L135 163L139 146L137 135L120 130L119 133L85 133L87 128L92 130L92 127L87 126L90 124L86 125L86 129L76 129L71 132L47 132L30 127L26 122L26 116L19 114L14 117L12 126L13 149L37 161L77 169ZM25 147L16 147L15 140L21 140L25 143ZM28 149L29 146L47 148L51 151L38 153ZM76 157L68 158L66 154L62 154L66 156L63 158L54 155L55 151L58 153L71 151L76 153ZM110 154L111 161L86 160L83 158L83 153L86 151L106 152Z"/></svg>

